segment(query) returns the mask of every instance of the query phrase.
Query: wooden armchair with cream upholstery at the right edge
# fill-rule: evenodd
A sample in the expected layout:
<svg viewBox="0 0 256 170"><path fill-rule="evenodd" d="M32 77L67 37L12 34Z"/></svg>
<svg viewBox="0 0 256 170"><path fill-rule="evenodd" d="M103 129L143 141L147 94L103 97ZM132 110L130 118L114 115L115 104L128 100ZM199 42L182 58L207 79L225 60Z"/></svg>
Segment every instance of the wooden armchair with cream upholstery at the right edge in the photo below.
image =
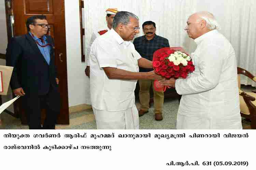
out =
<svg viewBox="0 0 256 170"><path fill-rule="evenodd" d="M251 74L249 71L237 67L238 74L238 87L239 87L239 97L240 97L240 114L242 117L249 119L251 121L251 128L256 129L256 91L252 92L243 92L240 87L240 74L245 75L246 77L252 79L256 82L256 77Z"/></svg>

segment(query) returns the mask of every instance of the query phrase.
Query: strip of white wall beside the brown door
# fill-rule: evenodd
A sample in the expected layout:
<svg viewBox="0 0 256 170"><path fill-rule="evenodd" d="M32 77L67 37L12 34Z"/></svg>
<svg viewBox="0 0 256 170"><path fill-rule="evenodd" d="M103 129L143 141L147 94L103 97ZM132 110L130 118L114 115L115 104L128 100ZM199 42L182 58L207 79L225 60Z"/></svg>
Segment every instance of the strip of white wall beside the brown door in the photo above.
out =
<svg viewBox="0 0 256 170"><path fill-rule="evenodd" d="M69 106L85 103L85 64L81 63L80 12L78 0L65 0Z"/></svg>

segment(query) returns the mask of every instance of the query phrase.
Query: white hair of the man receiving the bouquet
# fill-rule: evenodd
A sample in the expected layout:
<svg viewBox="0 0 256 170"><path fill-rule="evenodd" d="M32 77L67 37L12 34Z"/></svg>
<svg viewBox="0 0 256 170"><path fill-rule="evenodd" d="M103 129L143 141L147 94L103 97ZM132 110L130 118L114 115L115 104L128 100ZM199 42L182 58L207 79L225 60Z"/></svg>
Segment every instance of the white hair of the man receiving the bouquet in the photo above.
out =
<svg viewBox="0 0 256 170"><path fill-rule="evenodd" d="M219 23L217 22L217 20L215 19L215 17L213 16L212 13L208 12L208 11L200 11L196 13L202 20L205 20L207 23L207 28L209 30L221 30L221 26L219 25Z"/></svg>

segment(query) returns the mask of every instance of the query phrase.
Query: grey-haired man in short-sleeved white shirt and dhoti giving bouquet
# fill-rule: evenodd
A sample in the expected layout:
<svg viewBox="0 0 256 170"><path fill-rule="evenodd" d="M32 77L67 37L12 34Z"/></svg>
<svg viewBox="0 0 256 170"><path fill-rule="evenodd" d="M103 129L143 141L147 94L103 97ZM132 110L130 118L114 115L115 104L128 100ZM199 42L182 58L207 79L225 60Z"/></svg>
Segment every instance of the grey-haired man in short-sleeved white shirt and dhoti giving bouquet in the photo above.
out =
<svg viewBox="0 0 256 170"><path fill-rule="evenodd" d="M151 72L139 72L139 66L153 68L130 42L139 33L136 15L121 11L113 28L96 38L90 52L91 104L97 129L139 129L134 89L138 79L160 80Z"/></svg>

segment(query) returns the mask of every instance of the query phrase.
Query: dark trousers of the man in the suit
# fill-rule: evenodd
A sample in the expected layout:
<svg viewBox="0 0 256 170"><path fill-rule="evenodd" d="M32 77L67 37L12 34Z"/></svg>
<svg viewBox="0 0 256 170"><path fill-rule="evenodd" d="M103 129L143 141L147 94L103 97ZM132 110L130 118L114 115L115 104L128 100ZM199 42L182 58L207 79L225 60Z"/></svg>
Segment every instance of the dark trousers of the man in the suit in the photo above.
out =
<svg viewBox="0 0 256 170"><path fill-rule="evenodd" d="M58 107L59 100L59 93L53 92L51 88L46 95L26 94L23 97L23 104L25 106L29 129L55 129L57 116L60 113ZM46 109L43 127L41 126L42 108Z"/></svg>

